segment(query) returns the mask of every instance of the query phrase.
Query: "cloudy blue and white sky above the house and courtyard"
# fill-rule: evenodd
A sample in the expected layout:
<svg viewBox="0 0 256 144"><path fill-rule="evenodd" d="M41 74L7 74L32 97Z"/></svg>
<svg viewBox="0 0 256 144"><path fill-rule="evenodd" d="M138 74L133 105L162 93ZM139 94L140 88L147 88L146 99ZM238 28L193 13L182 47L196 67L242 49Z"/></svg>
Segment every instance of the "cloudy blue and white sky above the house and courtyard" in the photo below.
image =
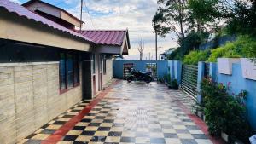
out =
<svg viewBox="0 0 256 144"><path fill-rule="evenodd" d="M16 3L26 3L28 0L12 0ZM67 10L79 18L80 0L43 0ZM85 6L86 5L86 6ZM155 60L154 32L152 18L157 9L157 0L84 0L83 29L114 30L128 29L131 42L126 60L139 60L138 43L145 43L143 60ZM177 47L173 34L158 38L158 55L166 49Z"/></svg>

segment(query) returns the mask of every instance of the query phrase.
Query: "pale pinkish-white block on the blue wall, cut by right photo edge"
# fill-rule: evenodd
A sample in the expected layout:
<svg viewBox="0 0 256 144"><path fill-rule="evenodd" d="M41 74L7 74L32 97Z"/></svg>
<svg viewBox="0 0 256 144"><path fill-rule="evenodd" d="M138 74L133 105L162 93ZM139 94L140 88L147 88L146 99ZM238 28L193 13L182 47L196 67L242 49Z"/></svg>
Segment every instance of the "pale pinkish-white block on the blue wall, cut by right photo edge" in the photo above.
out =
<svg viewBox="0 0 256 144"><path fill-rule="evenodd" d="M256 62L247 58L241 58L240 60L243 78L256 80Z"/></svg>

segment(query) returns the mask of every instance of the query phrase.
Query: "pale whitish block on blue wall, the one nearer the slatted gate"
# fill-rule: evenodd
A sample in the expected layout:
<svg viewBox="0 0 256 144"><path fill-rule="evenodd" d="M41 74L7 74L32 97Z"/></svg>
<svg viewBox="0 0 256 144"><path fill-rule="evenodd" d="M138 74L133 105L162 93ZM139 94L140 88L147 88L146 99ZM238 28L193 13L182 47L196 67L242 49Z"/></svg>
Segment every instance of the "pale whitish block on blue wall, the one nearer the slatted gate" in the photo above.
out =
<svg viewBox="0 0 256 144"><path fill-rule="evenodd" d="M232 75L233 63L239 63L238 58L218 58L218 72L222 74Z"/></svg>

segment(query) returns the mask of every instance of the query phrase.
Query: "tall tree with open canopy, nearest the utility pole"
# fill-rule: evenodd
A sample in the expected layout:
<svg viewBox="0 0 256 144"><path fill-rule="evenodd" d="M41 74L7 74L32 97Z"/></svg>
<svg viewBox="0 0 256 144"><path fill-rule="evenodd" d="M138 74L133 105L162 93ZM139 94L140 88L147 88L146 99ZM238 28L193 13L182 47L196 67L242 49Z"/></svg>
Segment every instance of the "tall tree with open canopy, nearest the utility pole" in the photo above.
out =
<svg viewBox="0 0 256 144"><path fill-rule="evenodd" d="M152 20L154 30L160 37L174 32L178 39L179 48L169 58L182 60L189 50L198 49L208 31L219 24L218 0L158 0L158 4Z"/></svg>

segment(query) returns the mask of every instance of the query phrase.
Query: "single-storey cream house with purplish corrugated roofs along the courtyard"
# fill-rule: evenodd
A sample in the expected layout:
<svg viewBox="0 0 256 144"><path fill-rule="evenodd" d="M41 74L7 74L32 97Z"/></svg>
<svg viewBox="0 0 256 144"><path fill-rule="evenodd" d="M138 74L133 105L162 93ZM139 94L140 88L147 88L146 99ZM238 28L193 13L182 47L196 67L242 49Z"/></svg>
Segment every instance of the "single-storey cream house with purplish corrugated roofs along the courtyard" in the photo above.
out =
<svg viewBox="0 0 256 144"><path fill-rule="evenodd" d="M39 0L0 0L1 144L96 96L112 78L112 57L128 55L128 30L78 31L80 23Z"/></svg>

